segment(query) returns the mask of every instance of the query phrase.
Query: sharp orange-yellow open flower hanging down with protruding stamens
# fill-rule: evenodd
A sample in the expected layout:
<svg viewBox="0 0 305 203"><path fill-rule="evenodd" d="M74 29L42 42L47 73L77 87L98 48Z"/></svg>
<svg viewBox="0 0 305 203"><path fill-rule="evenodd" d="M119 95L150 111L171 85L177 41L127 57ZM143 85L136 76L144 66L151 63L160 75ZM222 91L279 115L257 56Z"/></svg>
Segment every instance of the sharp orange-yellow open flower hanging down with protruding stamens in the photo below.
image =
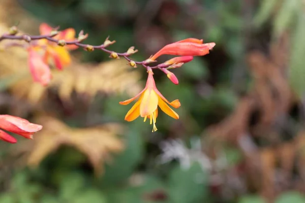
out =
<svg viewBox="0 0 305 203"><path fill-rule="evenodd" d="M133 121L139 116L144 118L144 122L146 119L150 119L150 124L153 124L153 132L157 130L156 121L158 117L158 106L160 109L173 117L174 119L178 119L179 115L174 112L169 106L174 108L180 107L180 102L178 99L172 101L171 103L159 92L156 87L155 80L153 77L153 71L148 71L148 78L146 82L145 88L135 97L121 101L119 104L128 105L137 97L139 97L138 101L134 104L134 106L129 110L129 112L125 116L125 120Z"/></svg>

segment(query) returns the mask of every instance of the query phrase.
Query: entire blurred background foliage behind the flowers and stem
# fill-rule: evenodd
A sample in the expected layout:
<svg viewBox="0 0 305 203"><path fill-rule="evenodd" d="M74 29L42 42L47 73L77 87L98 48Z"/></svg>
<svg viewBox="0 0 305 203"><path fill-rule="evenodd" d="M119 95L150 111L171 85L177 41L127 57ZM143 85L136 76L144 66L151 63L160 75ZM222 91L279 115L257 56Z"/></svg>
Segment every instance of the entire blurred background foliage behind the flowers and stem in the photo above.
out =
<svg viewBox="0 0 305 203"><path fill-rule="evenodd" d="M0 32L73 27L85 43L144 60L185 38L210 54L157 87L179 99L158 131L124 121L147 74L101 51L33 83L21 48L0 52L0 113L42 124L35 139L0 143L1 203L305 202L303 0L1 0ZM158 60L164 61L169 56Z"/></svg>

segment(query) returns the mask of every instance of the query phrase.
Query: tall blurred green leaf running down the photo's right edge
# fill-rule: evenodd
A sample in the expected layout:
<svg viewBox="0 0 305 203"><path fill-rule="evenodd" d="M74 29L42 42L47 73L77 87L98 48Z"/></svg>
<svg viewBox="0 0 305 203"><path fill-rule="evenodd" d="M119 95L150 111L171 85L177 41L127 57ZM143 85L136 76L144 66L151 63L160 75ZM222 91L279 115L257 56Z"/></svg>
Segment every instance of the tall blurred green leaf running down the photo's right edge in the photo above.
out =
<svg viewBox="0 0 305 203"><path fill-rule="evenodd" d="M292 36L289 80L292 88L299 97L304 96L305 88L305 14L300 14L295 33Z"/></svg>

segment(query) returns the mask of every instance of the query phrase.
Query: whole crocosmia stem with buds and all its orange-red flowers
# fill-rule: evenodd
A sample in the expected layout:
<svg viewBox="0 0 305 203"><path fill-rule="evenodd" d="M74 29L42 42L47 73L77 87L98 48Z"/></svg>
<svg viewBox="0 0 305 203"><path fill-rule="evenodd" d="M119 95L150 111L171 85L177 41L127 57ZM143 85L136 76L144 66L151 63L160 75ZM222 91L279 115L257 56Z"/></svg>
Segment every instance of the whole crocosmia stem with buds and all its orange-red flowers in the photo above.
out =
<svg viewBox="0 0 305 203"><path fill-rule="evenodd" d="M28 64L31 70L34 81L47 85L51 80L51 73L49 64L53 63L56 69L62 70L71 62L71 58L68 50L73 50L78 47L82 47L86 51L94 51L99 49L108 53L111 58L118 59L124 57L128 64L132 67L142 65L145 67L148 73L148 79L145 88L135 97L126 101L121 101L119 104L128 105L137 97L138 101L127 113L125 120L133 121L137 117L141 116L144 121L147 118L150 120L150 124L153 124L153 131L157 130L156 121L158 117L158 106L167 115L178 119L179 116L168 105L173 108L179 108L180 102L178 99L169 102L157 89L153 70L160 70L167 75L167 77L174 83L178 84L177 77L169 70L181 67L184 63L193 60L194 56L203 56L209 53L214 48L215 43L205 43L203 40L188 38L175 43L168 44L160 49L156 54L152 55L143 61L134 61L130 56L136 53L138 50L135 47L130 47L128 51L124 53L117 53L106 49L108 46L115 43L110 41L109 37L105 42L98 46L82 44L81 42L87 38L87 34L83 35L83 31L79 32L78 38L75 39L75 30L68 28L63 31L57 31L57 29L51 28L49 25L43 23L40 25L41 36L16 36L17 29L11 28L9 34L0 36L0 42L2 40L25 40L30 43L27 47L29 54ZM156 59L161 55L174 55L177 57L171 58L163 63L155 66L150 66L150 63L156 62Z"/></svg>

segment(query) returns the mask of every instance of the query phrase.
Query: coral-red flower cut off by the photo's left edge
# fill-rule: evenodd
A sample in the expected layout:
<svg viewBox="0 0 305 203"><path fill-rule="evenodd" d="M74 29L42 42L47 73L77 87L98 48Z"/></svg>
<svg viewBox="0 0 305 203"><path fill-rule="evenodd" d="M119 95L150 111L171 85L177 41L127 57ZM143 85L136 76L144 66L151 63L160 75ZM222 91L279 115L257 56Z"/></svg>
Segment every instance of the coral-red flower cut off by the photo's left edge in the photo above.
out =
<svg viewBox="0 0 305 203"><path fill-rule="evenodd" d="M33 134L42 129L41 125L30 123L23 118L0 115L0 128L19 134L26 139L33 139ZM0 130L0 139L9 143L16 143L16 139L7 132Z"/></svg>

